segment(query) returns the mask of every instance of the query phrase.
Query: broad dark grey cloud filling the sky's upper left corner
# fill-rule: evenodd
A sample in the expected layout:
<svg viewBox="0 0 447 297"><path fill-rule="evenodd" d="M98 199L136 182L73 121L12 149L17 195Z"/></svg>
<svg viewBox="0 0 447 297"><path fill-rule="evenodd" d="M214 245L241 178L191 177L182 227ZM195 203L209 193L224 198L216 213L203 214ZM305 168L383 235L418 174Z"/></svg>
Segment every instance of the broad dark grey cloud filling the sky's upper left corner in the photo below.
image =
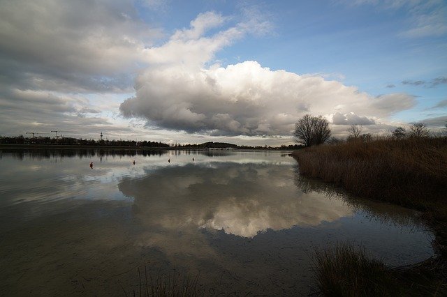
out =
<svg viewBox="0 0 447 297"><path fill-rule="evenodd" d="M0 74L19 89L117 91L159 30L126 1L2 1ZM124 80L122 80L124 78Z"/></svg>

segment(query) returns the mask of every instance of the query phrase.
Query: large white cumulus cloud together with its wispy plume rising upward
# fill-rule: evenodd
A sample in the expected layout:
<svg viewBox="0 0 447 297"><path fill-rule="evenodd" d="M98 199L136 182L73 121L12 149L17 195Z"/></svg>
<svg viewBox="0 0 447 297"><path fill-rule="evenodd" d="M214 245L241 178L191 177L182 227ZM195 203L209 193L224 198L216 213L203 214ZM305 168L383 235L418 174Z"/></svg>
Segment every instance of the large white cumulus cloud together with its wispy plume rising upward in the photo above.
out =
<svg viewBox="0 0 447 297"><path fill-rule="evenodd" d="M270 70L256 61L212 64L218 50L248 33L247 24L239 23L205 35L225 21L216 13L203 13L190 29L176 31L164 45L147 50L156 63L138 76L135 97L122 103L122 114L146 119L147 125L209 135L290 135L307 113L330 119L335 113L353 112L357 121L370 124L373 116L386 119L415 104L404 93L374 98L319 75ZM265 27L258 20L247 22L250 30L256 24Z"/></svg>

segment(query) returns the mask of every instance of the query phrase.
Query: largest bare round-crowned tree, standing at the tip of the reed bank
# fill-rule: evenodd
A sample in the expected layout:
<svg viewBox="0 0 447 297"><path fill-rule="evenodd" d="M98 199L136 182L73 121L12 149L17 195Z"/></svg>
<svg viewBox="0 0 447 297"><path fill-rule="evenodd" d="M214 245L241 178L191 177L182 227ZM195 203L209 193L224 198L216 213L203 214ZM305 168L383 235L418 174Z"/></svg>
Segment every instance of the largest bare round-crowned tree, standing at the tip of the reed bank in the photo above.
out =
<svg viewBox="0 0 447 297"><path fill-rule="evenodd" d="M323 144L330 137L329 122L323 116L306 114L295 123L295 137L305 146Z"/></svg>

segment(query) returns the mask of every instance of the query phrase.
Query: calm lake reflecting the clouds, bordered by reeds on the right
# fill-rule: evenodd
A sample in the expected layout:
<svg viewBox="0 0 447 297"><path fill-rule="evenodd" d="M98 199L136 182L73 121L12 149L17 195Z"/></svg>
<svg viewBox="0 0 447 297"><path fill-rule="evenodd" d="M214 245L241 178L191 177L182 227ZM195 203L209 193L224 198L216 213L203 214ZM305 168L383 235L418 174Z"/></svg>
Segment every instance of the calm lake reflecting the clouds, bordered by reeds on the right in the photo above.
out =
<svg viewBox="0 0 447 297"><path fill-rule="evenodd" d="M316 249L349 242L389 266L434 254L419 213L302 178L286 152L3 149L0 165L6 296L132 296L163 277L304 295Z"/></svg>

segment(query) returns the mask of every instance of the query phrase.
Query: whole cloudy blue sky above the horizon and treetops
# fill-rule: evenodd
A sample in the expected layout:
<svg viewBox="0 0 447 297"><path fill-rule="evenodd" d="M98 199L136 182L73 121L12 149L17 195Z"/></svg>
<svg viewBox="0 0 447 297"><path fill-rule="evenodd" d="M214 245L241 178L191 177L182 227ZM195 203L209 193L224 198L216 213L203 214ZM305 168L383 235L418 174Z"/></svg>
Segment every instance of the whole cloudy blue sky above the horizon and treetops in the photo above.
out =
<svg viewBox="0 0 447 297"><path fill-rule="evenodd" d="M447 1L0 0L0 136L279 146L305 114L445 127Z"/></svg>

